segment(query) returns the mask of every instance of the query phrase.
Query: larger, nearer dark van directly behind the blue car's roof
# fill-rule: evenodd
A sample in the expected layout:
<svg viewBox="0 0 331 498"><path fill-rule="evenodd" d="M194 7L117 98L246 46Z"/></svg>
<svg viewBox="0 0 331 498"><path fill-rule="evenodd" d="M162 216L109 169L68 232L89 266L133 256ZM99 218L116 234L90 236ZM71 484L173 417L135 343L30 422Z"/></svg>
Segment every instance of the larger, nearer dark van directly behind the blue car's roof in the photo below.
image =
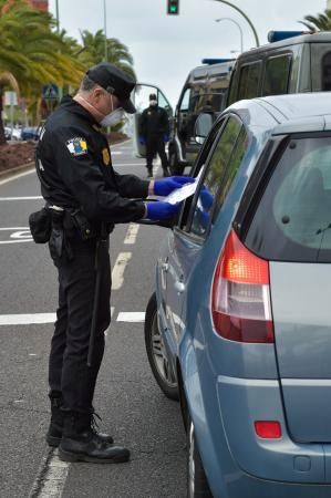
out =
<svg viewBox="0 0 331 498"><path fill-rule="evenodd" d="M331 33L293 34L271 31L271 43L238 56L225 107L242 98L331 90Z"/></svg>

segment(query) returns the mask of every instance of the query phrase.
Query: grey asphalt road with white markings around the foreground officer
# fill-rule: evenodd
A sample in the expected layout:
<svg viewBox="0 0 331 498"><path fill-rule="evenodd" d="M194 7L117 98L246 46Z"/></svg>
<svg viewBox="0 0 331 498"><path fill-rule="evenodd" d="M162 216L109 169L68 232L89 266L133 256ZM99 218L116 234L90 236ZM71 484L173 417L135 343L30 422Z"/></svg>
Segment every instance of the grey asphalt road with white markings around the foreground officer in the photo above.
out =
<svg viewBox="0 0 331 498"><path fill-rule="evenodd" d="M113 148L113 163L118 173L145 176L130 143ZM0 179L0 496L185 497L179 406L154 382L144 347L143 313L166 228L121 225L111 237L117 288L94 405L101 429L132 450L131 461L62 464L44 442L58 290L48 248L34 245L28 230L28 215L42 206L39 196L34 172Z"/></svg>

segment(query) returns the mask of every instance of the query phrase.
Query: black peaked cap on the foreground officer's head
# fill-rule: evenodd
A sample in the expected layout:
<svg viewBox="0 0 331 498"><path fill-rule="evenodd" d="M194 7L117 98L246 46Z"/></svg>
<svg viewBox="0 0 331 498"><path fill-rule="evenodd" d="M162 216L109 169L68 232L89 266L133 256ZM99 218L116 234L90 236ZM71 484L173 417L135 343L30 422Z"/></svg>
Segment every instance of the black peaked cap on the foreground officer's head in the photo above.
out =
<svg viewBox="0 0 331 498"><path fill-rule="evenodd" d="M90 80L97 83L107 92L113 93L118 97L121 107L128 114L136 112L135 106L130 100L131 92L136 85L135 80L124 71L116 68L110 62L101 62L93 65L86 71L86 75Z"/></svg>

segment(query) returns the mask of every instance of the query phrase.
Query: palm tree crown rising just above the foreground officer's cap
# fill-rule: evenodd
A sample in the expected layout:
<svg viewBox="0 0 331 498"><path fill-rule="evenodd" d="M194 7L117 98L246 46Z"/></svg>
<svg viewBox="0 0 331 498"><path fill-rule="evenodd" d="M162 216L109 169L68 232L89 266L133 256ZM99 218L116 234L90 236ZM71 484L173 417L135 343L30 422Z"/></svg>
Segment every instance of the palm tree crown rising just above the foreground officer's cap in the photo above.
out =
<svg viewBox="0 0 331 498"><path fill-rule="evenodd" d="M82 42L85 50L92 55L94 64L104 61L105 56L105 35L102 30L96 31L95 34L87 30L81 31ZM128 52L126 45L120 42L116 38L106 39L107 62L117 65L123 71L126 71L132 76L135 75L133 70L133 56Z"/></svg>

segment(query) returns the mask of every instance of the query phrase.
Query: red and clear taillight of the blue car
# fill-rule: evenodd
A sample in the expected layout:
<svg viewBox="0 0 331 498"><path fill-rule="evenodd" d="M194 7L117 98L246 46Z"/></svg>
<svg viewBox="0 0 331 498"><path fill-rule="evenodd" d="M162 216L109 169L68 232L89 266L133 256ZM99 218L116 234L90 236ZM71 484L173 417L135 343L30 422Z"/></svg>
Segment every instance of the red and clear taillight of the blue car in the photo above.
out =
<svg viewBox="0 0 331 498"><path fill-rule="evenodd" d="M238 342L272 343L269 263L250 252L230 231L213 282L216 332Z"/></svg>

